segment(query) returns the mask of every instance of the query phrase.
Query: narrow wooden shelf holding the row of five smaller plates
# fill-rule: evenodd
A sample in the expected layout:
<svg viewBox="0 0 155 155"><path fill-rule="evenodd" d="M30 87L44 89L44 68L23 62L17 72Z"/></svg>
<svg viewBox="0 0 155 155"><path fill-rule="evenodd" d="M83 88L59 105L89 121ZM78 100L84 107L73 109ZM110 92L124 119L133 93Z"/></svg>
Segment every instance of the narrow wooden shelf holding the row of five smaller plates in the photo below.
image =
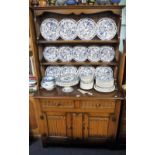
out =
<svg viewBox="0 0 155 155"><path fill-rule="evenodd" d="M48 65L74 65L74 66L81 66L81 65L103 65L103 66L117 66L118 63L116 61L114 62L90 62L90 61L85 61L85 62L76 62L76 61L71 61L71 62L62 62L62 61L56 61L56 62L46 62L44 59L41 61L41 65L43 66L48 66Z"/></svg>

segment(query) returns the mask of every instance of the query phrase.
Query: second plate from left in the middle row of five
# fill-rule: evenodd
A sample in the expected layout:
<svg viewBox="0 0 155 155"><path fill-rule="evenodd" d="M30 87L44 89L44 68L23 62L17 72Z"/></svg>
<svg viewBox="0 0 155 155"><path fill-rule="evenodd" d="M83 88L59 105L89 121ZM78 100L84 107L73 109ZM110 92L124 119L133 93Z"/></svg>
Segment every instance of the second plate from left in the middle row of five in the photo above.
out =
<svg viewBox="0 0 155 155"><path fill-rule="evenodd" d="M59 48L59 59L63 62L69 62L73 59L73 49L69 46Z"/></svg>

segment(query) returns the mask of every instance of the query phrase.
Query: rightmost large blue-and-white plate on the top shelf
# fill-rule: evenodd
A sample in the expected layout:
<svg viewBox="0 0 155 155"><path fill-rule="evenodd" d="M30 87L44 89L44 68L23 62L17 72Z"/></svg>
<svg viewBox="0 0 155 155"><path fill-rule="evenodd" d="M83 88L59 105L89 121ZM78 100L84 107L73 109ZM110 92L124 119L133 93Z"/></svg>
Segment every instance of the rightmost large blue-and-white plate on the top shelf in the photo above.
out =
<svg viewBox="0 0 155 155"><path fill-rule="evenodd" d="M117 33L117 25L111 18L102 18L97 22L97 36L101 40L111 40Z"/></svg>

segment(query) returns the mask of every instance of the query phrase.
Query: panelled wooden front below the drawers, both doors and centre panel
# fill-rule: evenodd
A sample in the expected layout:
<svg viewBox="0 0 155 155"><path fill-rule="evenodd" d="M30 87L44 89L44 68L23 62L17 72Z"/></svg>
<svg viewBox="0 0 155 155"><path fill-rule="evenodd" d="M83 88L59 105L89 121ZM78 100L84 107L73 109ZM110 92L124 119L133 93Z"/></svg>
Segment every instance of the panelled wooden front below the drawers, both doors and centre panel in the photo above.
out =
<svg viewBox="0 0 155 155"><path fill-rule="evenodd" d="M49 137L110 138L116 131L112 114L46 112L45 131Z"/></svg>

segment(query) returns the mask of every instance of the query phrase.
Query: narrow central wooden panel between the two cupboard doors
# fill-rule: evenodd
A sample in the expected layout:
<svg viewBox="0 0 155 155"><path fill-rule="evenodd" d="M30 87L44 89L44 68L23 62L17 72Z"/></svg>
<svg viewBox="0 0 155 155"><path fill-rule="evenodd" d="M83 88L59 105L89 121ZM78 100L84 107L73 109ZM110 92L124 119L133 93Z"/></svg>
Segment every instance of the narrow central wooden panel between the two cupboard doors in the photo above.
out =
<svg viewBox="0 0 155 155"><path fill-rule="evenodd" d="M83 114L82 113L73 113L72 114L72 138L83 137Z"/></svg>

